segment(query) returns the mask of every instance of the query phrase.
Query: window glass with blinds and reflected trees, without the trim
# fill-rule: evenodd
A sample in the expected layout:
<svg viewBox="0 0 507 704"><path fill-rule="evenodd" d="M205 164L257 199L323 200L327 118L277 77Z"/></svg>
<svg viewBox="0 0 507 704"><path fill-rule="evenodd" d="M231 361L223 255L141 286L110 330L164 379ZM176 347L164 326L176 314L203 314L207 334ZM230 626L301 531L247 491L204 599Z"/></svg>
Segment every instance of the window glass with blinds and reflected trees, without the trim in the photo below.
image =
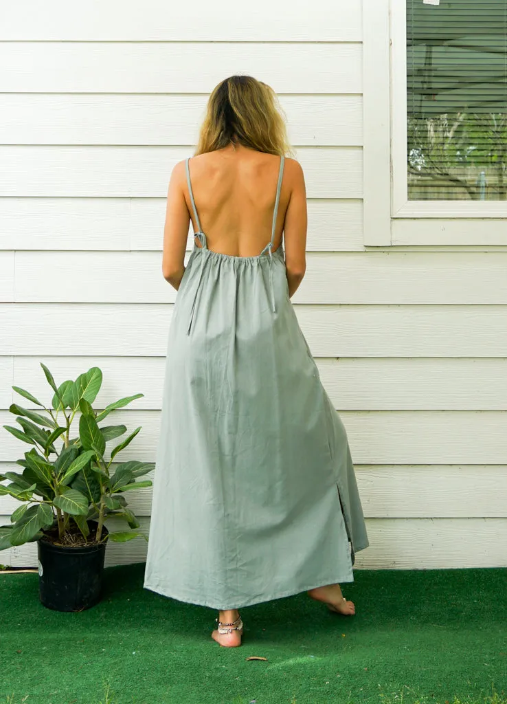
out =
<svg viewBox="0 0 507 704"><path fill-rule="evenodd" d="M409 200L507 199L507 0L406 0Z"/></svg>

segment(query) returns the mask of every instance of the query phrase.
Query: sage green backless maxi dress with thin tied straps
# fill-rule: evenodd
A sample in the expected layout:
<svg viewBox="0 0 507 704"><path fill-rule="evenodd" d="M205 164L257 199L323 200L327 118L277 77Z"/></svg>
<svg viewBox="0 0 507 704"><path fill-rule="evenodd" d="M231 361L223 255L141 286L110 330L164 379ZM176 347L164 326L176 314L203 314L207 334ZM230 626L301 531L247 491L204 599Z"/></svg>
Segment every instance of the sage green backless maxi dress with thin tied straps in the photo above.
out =
<svg viewBox="0 0 507 704"><path fill-rule="evenodd" d="M167 343L144 588L233 609L353 582L368 536L342 421L288 296L282 246L195 233ZM349 546L350 543L350 546Z"/></svg>

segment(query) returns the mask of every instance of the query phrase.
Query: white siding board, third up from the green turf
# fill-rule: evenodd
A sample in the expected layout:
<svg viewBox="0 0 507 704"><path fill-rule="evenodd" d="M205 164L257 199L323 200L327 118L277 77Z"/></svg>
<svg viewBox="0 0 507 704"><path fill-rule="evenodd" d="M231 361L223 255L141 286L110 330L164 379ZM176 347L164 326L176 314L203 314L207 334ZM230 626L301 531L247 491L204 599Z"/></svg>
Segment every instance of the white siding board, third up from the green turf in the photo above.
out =
<svg viewBox="0 0 507 704"><path fill-rule="evenodd" d="M142 379L136 386L142 388ZM507 465L505 413L483 411L387 410L340 412L349 437L354 464L358 465ZM0 411L0 425L13 425L14 416ZM118 460L155 462L159 410L118 410L115 423L141 432ZM0 462L13 462L30 450L3 429Z"/></svg>

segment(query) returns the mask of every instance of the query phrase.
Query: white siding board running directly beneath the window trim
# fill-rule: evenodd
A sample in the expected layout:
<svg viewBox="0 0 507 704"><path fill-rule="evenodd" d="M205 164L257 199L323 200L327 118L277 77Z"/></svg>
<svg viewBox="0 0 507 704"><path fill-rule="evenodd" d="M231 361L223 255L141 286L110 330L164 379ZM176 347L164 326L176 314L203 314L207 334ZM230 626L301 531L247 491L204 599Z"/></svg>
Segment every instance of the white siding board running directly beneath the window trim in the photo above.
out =
<svg viewBox="0 0 507 704"><path fill-rule="evenodd" d="M309 253L292 300L505 305L506 272L507 252ZM15 301L173 303L176 296L162 276L161 252L26 251L15 260ZM507 331L505 338L507 344Z"/></svg>

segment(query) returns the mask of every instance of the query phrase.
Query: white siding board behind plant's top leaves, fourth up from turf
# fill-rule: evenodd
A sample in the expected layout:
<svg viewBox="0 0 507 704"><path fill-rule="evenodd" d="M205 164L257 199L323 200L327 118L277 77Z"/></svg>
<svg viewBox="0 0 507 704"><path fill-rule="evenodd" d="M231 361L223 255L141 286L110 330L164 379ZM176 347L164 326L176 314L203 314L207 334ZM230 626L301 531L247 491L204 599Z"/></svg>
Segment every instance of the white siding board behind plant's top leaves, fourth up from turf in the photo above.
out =
<svg viewBox="0 0 507 704"><path fill-rule="evenodd" d="M11 403L37 408L11 385L28 389L49 403L51 389L41 363L49 367L58 384L76 379L90 367L99 367L103 384L98 403L103 406L134 392L144 394L136 399L136 409L158 410L162 405L164 356L76 354L0 357L0 408ZM317 357L316 365L338 410L507 410L503 391L507 387L507 359Z"/></svg>

